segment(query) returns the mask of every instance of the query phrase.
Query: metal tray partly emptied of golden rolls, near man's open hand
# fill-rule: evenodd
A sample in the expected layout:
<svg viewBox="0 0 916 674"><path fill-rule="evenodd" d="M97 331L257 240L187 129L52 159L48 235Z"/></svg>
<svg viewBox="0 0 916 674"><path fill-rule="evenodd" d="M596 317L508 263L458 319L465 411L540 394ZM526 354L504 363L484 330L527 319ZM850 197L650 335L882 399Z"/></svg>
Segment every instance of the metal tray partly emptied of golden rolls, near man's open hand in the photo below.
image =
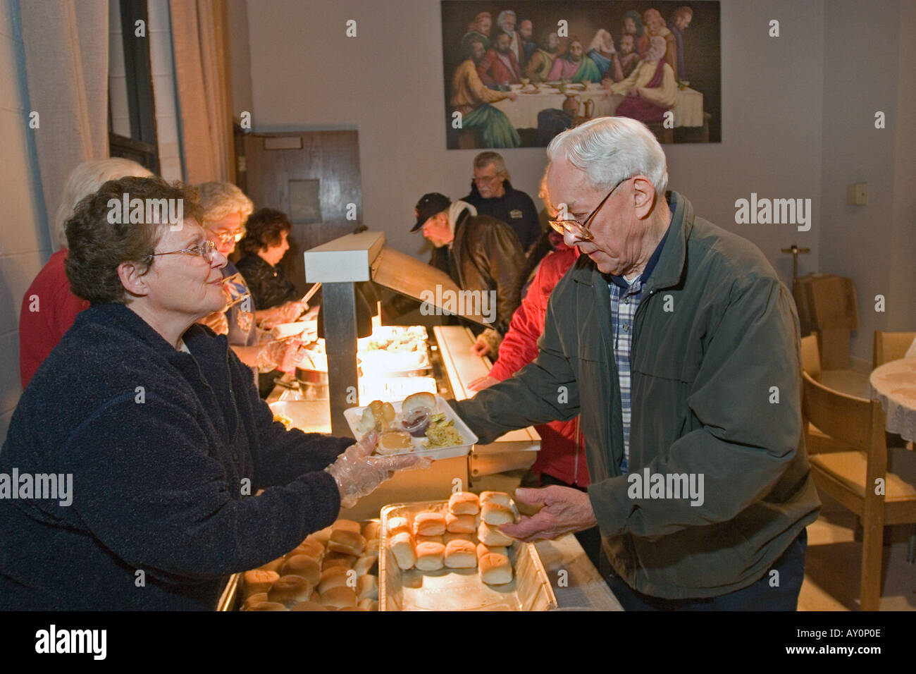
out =
<svg viewBox="0 0 916 674"><path fill-rule="evenodd" d="M518 520L505 492L382 508L379 611L550 611L551 581L530 543L498 526Z"/></svg>

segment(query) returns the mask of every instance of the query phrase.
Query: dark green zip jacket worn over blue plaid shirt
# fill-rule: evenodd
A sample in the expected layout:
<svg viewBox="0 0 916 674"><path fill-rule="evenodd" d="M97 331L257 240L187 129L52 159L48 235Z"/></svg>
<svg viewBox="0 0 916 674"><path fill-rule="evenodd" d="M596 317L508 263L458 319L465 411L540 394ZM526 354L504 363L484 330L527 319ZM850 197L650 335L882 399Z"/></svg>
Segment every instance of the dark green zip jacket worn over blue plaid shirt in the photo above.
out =
<svg viewBox="0 0 916 674"><path fill-rule="evenodd" d="M702 498L653 498L621 473L610 291L585 256L551 294L538 359L452 404L481 443L581 414L588 494L616 572L644 594L714 597L767 573L821 503L789 291L757 247L695 217L682 195L671 210L633 327L629 476L702 476Z"/></svg>

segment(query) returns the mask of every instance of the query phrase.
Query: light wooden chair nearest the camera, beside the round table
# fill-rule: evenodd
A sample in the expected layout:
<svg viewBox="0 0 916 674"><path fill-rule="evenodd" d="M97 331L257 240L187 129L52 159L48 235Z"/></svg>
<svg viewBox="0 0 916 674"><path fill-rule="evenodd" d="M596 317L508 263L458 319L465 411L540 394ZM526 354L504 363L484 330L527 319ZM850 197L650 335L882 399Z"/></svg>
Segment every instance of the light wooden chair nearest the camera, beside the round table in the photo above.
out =
<svg viewBox="0 0 916 674"><path fill-rule="evenodd" d="M810 421L834 440L853 447L809 460L818 491L862 520L860 605L863 611L877 611L884 526L916 523L916 454L900 449L900 455L892 457L894 470L889 471L881 403L829 389L807 372L802 372L802 386L805 427ZM876 493L879 480L884 494Z"/></svg>

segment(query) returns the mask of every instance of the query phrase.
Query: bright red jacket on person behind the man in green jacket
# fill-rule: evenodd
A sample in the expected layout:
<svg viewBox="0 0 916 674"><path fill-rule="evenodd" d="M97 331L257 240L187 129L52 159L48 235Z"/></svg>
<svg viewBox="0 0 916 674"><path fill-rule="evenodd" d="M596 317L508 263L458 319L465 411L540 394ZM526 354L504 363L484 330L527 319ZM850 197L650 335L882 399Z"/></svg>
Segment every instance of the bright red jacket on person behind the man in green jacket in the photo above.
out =
<svg viewBox="0 0 916 674"><path fill-rule="evenodd" d="M506 380L537 358L538 338L544 331L547 302L553 287L573 266L576 257L577 249L564 247L541 260L528 294L512 315L506 337L499 345L499 358L490 370L491 377ZM579 431L579 417L571 421L551 421L535 428L540 433L541 442L538 460L531 470L538 474L547 473L567 484L588 486L588 466Z"/></svg>

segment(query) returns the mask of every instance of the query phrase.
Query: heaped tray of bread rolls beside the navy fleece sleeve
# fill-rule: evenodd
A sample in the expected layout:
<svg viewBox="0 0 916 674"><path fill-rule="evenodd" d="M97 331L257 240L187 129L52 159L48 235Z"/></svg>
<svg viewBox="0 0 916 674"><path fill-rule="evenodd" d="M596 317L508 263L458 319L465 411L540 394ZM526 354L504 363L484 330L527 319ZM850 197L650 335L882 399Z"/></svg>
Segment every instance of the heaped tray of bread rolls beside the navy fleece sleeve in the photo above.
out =
<svg viewBox="0 0 916 674"><path fill-rule="evenodd" d="M258 569L235 574L220 611L377 611L381 524L340 519Z"/></svg>

